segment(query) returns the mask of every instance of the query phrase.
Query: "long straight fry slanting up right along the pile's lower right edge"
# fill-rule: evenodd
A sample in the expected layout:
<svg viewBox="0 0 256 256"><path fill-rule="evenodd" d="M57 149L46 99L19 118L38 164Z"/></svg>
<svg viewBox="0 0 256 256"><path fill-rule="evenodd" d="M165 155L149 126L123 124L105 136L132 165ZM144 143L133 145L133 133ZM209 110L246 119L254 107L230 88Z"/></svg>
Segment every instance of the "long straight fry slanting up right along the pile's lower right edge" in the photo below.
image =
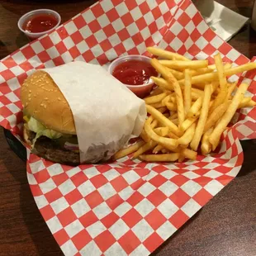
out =
<svg viewBox="0 0 256 256"><path fill-rule="evenodd" d="M221 117L218 125L212 131L211 135L209 136L209 141L212 145L212 149L215 150L219 140L220 135L222 135L225 127L228 126L229 122L231 121L232 117L235 114L235 111L239 107L239 103L241 102L242 98L244 97L244 93L246 92L247 88L249 87L246 83L241 83L239 88L235 92L235 96L233 97L230 106L225 111L225 114Z"/></svg>

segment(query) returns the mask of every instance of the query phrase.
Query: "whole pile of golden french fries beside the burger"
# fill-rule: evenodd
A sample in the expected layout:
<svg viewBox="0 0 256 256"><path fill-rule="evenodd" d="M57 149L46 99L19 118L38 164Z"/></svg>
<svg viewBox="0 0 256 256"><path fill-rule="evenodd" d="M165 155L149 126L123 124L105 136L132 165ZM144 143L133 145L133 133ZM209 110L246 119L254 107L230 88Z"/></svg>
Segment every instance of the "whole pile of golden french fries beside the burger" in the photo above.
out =
<svg viewBox="0 0 256 256"><path fill-rule="evenodd" d="M251 97L244 96L249 85L237 87L227 78L256 69L256 63L232 67L217 54L215 64L209 65L207 60L190 60L154 47L147 50L159 57L151 64L161 78L151 77L158 87L144 99L148 118L141 140L121 149L115 159L134 153L133 159L147 162L183 162L196 159L198 150L210 154L235 111L255 106Z"/></svg>

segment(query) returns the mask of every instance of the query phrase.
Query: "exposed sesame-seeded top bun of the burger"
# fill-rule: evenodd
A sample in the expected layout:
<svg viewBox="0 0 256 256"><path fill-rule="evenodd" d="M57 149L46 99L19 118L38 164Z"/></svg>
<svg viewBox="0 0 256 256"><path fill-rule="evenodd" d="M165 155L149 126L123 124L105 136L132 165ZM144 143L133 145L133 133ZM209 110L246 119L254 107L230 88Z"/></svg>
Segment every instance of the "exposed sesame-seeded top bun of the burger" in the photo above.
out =
<svg viewBox="0 0 256 256"><path fill-rule="evenodd" d="M59 87L48 73L36 71L21 86L24 111L45 127L75 135L73 114Z"/></svg>

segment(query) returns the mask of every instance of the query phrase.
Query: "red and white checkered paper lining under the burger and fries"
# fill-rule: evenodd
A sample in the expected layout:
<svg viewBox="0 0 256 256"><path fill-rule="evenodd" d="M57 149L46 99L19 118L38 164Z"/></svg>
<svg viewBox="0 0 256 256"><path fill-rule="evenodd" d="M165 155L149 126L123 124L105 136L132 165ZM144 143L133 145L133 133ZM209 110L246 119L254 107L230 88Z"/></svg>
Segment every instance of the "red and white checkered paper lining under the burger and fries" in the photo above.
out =
<svg viewBox="0 0 256 256"><path fill-rule="evenodd" d="M83 60L107 65L120 55L146 55L158 45L191 59L244 64L203 21L189 0L103 0L0 62L0 125L19 135L20 87L35 69ZM255 71L245 75L256 93ZM233 76L230 80L236 80ZM242 78L241 78L242 80ZM129 157L76 168L28 150L27 177L45 222L66 255L148 255L227 183L243 163L239 140L256 138L256 108L237 113L220 152L183 164L148 164ZM44 241L42 241L44 243Z"/></svg>

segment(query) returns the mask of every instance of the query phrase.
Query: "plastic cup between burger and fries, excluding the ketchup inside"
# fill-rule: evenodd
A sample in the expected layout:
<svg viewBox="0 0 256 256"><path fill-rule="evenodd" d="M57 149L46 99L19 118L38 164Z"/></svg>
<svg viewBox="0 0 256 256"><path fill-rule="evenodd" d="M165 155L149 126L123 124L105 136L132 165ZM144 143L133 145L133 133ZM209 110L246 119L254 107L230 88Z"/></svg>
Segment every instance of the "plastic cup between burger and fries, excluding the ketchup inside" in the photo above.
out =
<svg viewBox="0 0 256 256"><path fill-rule="evenodd" d="M121 64L125 61L128 61L128 60L139 60L139 61L144 61L144 62L150 63L150 59L151 58L143 56L143 55L122 56L122 57L115 59L113 62L111 62L111 64L108 67L108 72L112 74L113 71L116 69L116 67L119 64ZM160 77L160 73L158 74L158 77ZM135 95L137 95L138 97L145 97L145 96L149 95L149 93L151 92L151 90L155 84L152 79L149 79L149 82L145 83L145 84L141 84L141 85L125 84L125 85L127 88L130 89L131 92L134 92Z"/></svg>

